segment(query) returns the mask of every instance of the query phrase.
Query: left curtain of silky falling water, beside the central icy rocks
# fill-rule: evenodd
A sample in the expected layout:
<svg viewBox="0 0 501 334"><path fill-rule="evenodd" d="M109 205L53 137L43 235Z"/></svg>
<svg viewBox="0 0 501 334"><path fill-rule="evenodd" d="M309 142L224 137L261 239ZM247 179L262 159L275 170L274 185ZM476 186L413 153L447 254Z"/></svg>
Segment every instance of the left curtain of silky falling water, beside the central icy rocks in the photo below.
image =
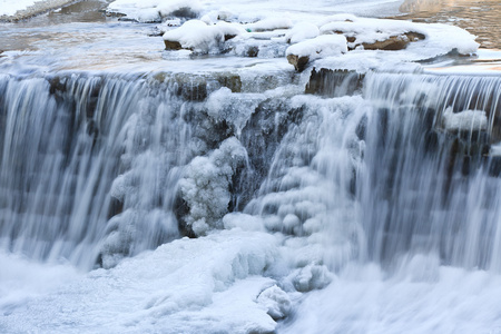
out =
<svg viewBox="0 0 501 334"><path fill-rule="evenodd" d="M178 235L171 167L189 158L189 129L168 85L69 75L0 86L2 248L90 268L105 234L119 238L105 253L127 255Z"/></svg>

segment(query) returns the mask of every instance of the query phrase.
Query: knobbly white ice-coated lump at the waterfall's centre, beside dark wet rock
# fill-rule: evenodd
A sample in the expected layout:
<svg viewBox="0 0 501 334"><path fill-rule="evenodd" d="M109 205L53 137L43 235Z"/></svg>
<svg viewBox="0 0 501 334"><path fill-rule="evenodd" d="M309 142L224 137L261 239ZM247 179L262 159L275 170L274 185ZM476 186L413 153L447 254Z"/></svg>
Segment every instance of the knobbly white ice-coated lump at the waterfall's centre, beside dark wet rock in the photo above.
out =
<svg viewBox="0 0 501 334"><path fill-rule="evenodd" d="M181 197L189 208L184 217L188 230L202 236L222 227L220 219L228 212L232 197L233 177L246 158L245 148L232 137L208 157L196 157L189 163L185 178L179 181Z"/></svg>

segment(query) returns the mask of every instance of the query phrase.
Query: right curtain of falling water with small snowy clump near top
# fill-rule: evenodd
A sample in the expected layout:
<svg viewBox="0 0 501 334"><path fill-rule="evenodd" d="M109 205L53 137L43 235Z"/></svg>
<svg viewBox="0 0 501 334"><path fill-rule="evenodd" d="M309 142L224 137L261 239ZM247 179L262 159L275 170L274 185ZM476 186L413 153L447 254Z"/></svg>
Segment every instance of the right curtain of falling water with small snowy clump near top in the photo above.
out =
<svg viewBox="0 0 501 334"><path fill-rule="evenodd" d="M499 269L501 81L370 75L358 193L369 256L436 253L444 264Z"/></svg>

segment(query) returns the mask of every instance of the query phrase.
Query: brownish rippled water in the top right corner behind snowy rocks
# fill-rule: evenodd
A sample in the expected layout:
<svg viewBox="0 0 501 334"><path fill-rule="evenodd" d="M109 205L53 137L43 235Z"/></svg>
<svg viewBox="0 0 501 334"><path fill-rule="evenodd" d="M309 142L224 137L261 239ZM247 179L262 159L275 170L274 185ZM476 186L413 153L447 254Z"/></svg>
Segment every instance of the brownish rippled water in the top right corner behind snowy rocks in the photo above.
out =
<svg viewBox="0 0 501 334"><path fill-rule="evenodd" d="M481 48L501 49L500 0L407 0L401 20L461 27L478 36Z"/></svg>

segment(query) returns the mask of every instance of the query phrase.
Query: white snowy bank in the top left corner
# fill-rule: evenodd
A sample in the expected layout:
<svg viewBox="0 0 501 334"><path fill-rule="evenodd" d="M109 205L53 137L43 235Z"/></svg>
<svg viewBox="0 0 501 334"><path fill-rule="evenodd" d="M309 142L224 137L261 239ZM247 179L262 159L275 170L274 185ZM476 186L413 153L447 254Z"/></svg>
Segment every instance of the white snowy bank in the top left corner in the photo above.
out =
<svg viewBox="0 0 501 334"><path fill-rule="evenodd" d="M9 1L9 0L7 0ZM14 22L24 20L37 14L53 10L70 3L79 2L80 0L42 0L42 1L18 1L2 2L2 9L0 10L0 21Z"/></svg>

